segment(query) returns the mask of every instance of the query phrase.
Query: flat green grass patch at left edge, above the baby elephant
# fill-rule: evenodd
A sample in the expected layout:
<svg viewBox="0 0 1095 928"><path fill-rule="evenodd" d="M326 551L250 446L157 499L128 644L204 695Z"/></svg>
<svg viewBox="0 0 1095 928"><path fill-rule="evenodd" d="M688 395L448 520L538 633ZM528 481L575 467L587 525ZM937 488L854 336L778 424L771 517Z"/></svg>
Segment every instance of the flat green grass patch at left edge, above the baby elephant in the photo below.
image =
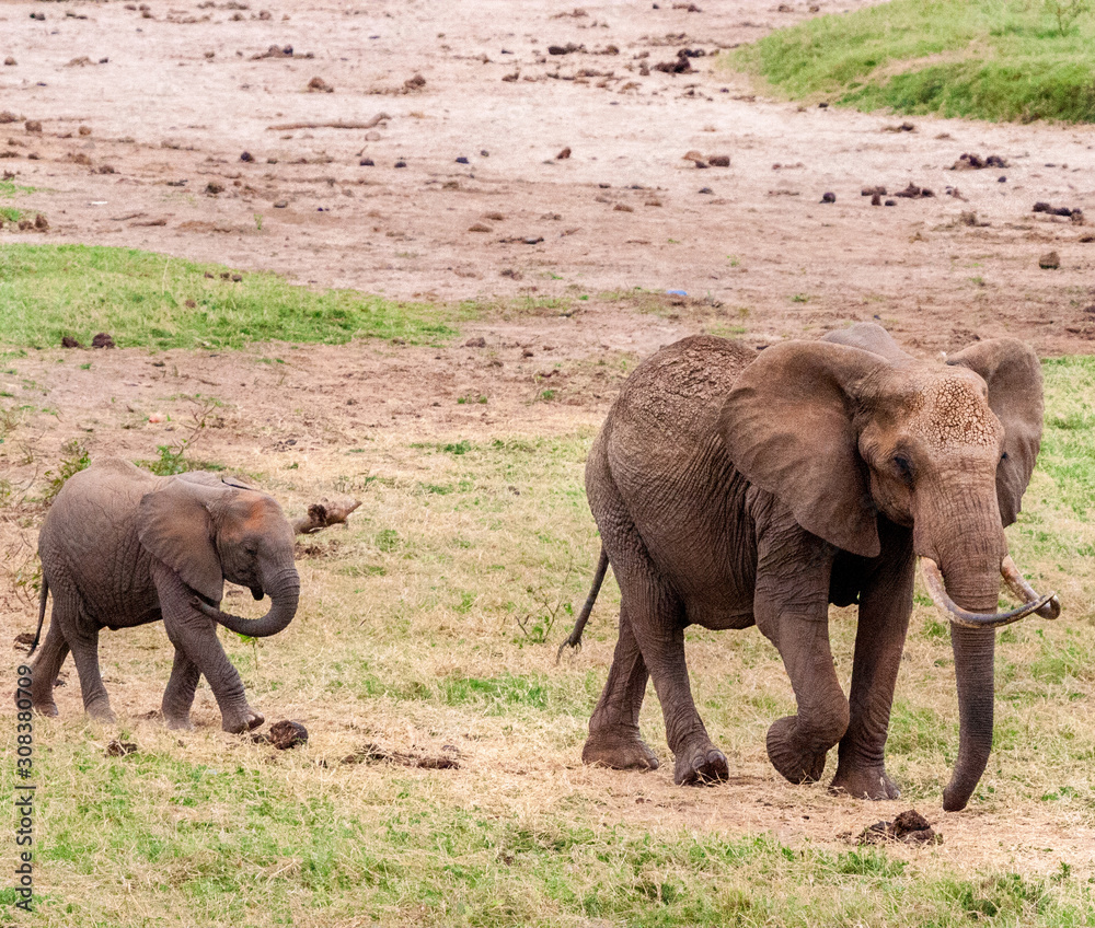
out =
<svg viewBox="0 0 1095 928"><path fill-rule="evenodd" d="M238 277L240 279L233 280ZM0 246L0 343L240 348L253 341L342 344L356 337L437 344L452 314L350 290L314 291L274 274L234 274L128 248Z"/></svg>

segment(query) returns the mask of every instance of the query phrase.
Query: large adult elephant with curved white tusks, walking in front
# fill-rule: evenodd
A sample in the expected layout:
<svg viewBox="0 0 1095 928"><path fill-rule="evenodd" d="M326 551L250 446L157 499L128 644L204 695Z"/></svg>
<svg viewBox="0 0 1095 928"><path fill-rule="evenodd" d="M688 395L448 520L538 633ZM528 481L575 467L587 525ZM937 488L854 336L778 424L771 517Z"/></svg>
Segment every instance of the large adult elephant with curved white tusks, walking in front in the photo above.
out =
<svg viewBox="0 0 1095 928"><path fill-rule="evenodd" d="M919 556L950 620L960 745L944 808L963 809L992 744L993 628L1060 608L1018 575L1003 531L1034 469L1041 415L1038 359L1013 338L944 363L865 324L760 355L685 338L639 364L586 466L602 550L565 643L579 643L609 564L622 602L583 759L658 766L638 733L653 676L673 779L725 779L689 687L684 628L756 624L798 708L769 729L775 768L816 780L839 742L834 789L896 798L883 749ZM1001 573L1027 604L996 614ZM830 603L858 603L849 698L833 670Z"/></svg>

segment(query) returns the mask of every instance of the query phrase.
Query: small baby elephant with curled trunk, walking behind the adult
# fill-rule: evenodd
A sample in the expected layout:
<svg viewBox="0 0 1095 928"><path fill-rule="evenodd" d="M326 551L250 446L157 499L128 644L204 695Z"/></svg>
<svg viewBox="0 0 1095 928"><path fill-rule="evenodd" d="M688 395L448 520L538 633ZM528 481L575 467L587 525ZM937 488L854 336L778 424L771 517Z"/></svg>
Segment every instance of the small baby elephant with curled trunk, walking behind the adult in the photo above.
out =
<svg viewBox="0 0 1095 928"><path fill-rule="evenodd" d="M31 699L57 715L54 682L69 650L87 711L113 720L99 671L99 630L163 619L175 646L163 717L189 728L198 677L209 682L224 731L261 726L243 682L217 639L217 623L252 637L275 635L297 612L300 581L293 531L265 494L207 473L154 477L118 459L103 459L71 477L38 536L42 606L53 593L49 633L34 661ZM224 580L270 598L263 618L220 612Z"/></svg>

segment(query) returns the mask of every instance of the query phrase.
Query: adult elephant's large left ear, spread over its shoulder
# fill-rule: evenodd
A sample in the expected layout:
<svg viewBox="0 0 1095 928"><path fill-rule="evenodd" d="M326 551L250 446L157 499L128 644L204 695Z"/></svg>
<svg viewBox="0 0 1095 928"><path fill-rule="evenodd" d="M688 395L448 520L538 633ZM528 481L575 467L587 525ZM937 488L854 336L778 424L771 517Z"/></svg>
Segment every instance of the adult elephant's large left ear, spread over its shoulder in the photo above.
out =
<svg viewBox="0 0 1095 928"><path fill-rule="evenodd" d="M788 341L741 372L722 410L737 469L808 532L863 557L880 544L853 411L863 381L887 367L862 348Z"/></svg>

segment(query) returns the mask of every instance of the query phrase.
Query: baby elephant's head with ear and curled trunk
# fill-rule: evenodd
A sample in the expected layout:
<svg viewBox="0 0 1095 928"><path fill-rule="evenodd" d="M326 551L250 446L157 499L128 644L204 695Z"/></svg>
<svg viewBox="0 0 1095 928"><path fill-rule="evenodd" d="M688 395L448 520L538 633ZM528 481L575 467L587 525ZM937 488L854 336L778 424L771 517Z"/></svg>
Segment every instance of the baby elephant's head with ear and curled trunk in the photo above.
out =
<svg viewBox="0 0 1095 928"><path fill-rule="evenodd" d="M197 593L195 605L221 625L253 638L276 635L297 612L300 579L295 535L281 508L244 484L184 475L140 501L140 543ZM270 598L262 618L221 612L224 580Z"/></svg>

